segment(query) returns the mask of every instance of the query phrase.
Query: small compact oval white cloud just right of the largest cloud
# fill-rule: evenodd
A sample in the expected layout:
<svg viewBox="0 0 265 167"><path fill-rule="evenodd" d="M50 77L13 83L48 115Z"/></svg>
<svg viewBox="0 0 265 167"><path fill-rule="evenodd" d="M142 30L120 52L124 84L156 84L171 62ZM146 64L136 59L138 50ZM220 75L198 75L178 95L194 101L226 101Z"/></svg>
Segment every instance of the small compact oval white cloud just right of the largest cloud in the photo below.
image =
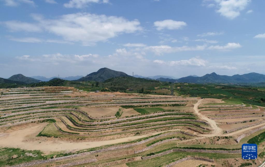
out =
<svg viewBox="0 0 265 167"><path fill-rule="evenodd" d="M163 29L181 29L185 27L187 23L184 21L174 21L174 20L163 20L163 21L155 21L154 26L157 30L163 30Z"/></svg>

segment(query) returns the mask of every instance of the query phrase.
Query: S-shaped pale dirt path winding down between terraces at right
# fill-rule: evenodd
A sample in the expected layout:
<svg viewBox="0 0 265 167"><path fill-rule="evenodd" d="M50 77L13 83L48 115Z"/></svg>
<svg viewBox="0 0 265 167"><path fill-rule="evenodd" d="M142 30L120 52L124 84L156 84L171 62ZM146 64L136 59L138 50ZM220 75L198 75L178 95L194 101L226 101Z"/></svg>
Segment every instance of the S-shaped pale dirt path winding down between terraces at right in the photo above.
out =
<svg viewBox="0 0 265 167"><path fill-rule="evenodd" d="M195 113L198 115L199 118L201 118L202 120L207 121L210 124L210 126L213 128L213 131L214 131L212 134L205 134L203 136L211 137L211 136L222 135L222 129L218 127L216 122L214 120L211 120L207 116L202 115L202 113L199 112L198 107L201 104L202 100L204 100L204 99L198 100L198 102L194 104L193 109L194 109Z"/></svg>

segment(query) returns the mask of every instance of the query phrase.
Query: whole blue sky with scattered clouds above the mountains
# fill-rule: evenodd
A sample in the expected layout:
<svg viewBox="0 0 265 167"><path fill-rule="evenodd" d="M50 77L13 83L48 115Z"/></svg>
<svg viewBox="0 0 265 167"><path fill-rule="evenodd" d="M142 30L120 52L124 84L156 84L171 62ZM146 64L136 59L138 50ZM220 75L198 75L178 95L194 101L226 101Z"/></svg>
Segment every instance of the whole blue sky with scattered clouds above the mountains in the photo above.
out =
<svg viewBox="0 0 265 167"><path fill-rule="evenodd" d="M265 74L265 1L0 0L0 77Z"/></svg>

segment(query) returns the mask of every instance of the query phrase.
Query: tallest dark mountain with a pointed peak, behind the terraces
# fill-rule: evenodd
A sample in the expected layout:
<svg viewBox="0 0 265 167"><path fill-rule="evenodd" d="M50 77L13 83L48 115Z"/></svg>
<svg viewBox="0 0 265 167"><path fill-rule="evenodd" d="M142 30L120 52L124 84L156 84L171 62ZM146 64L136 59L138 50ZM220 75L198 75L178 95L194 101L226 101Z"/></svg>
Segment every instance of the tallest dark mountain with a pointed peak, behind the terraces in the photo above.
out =
<svg viewBox="0 0 265 167"><path fill-rule="evenodd" d="M97 72L92 72L88 74L85 77L82 77L78 79L77 81L98 81L98 82L104 82L105 80L109 78L114 78L114 77L132 77L129 76L128 74L120 71L114 71L109 68L100 68Z"/></svg>

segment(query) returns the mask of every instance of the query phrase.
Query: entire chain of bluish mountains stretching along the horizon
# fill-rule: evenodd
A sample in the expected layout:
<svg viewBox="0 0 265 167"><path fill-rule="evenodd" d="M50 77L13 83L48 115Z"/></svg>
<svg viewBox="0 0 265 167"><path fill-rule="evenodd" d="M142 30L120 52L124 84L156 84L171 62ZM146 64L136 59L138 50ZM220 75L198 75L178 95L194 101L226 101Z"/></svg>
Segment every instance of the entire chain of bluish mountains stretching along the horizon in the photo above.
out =
<svg viewBox="0 0 265 167"><path fill-rule="evenodd" d="M92 72L85 77L75 76L75 77L65 77L60 78L63 80L74 80L74 81L98 81L104 82L109 78L115 77L132 77L124 72L114 71L109 68L100 68L97 72ZM157 80L161 82L187 82L187 83L261 83L265 82L265 75L259 73L248 73L243 75L218 75L216 73L206 74L202 77L198 77L196 75L190 75L187 77L182 77L179 79L173 79L172 76L149 76L144 77L140 75L134 75L135 78L145 78L149 80ZM159 77L159 78L157 78ZM8 79L0 78L0 83L16 83L16 84L25 84L25 83L38 83L42 81L49 81L57 77L46 78L42 76L34 76L34 77L25 77L22 74L16 74L11 76ZM156 79L153 79L156 78Z"/></svg>

